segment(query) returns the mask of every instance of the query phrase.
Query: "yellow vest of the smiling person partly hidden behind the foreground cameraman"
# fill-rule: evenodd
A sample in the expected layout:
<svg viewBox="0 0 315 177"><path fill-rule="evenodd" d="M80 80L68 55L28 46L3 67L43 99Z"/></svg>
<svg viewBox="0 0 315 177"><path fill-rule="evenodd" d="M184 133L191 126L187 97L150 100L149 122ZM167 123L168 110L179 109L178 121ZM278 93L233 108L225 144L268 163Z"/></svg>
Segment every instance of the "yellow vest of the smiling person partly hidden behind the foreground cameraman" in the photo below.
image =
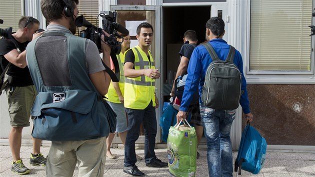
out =
<svg viewBox="0 0 315 177"><path fill-rule="evenodd" d="M123 90L124 90L124 74L123 74L123 63L124 63L124 54L120 52L119 54L116 54L117 59L118 59L118 65L119 65L119 71L120 71L120 76L119 76L119 88L123 96ZM110 102L115 102L115 103L121 103L119 100L119 97L117 95L117 92L115 88L112 85L112 81L110 81L109 87L108 87L108 92L105 95L107 97L107 100Z"/></svg>

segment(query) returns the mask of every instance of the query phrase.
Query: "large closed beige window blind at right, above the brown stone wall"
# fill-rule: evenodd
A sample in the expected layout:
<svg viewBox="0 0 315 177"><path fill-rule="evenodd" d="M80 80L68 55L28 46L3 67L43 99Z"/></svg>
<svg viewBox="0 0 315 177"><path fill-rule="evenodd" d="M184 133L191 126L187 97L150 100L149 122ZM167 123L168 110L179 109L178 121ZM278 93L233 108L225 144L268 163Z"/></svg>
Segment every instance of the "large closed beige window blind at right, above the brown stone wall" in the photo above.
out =
<svg viewBox="0 0 315 177"><path fill-rule="evenodd" d="M249 70L309 71L312 0L251 0Z"/></svg>

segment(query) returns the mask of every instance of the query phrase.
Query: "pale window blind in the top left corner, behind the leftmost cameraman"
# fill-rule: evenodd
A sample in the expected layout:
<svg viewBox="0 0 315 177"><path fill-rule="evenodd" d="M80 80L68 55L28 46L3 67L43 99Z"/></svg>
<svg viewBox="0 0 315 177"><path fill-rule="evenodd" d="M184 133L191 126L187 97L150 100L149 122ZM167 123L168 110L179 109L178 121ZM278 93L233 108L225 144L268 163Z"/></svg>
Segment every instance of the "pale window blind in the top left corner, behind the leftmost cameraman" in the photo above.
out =
<svg viewBox="0 0 315 177"><path fill-rule="evenodd" d="M0 28L12 27L12 31L16 31L21 14L21 0L1 0L0 19L3 19L3 24Z"/></svg>

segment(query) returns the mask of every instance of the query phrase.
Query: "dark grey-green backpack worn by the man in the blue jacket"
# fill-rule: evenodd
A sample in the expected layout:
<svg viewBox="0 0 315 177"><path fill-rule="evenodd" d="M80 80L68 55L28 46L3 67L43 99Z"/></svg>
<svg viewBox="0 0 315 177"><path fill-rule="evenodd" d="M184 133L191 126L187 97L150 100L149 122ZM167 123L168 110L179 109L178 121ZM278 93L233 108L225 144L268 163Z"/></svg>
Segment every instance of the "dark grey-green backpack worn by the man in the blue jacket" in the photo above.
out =
<svg viewBox="0 0 315 177"><path fill-rule="evenodd" d="M230 45L227 57L221 60L209 43L202 45L213 60L205 73L201 92L203 104L213 109L236 109L242 91L241 73L233 63L235 48Z"/></svg>

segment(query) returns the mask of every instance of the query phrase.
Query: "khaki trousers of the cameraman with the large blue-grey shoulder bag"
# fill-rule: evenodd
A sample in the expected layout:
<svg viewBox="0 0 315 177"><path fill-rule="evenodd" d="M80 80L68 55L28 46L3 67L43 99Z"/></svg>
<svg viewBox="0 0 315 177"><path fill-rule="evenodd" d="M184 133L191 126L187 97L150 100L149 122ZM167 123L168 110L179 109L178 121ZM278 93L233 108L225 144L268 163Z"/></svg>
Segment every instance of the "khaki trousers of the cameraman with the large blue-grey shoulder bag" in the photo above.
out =
<svg viewBox="0 0 315 177"><path fill-rule="evenodd" d="M78 162L77 176L101 177L106 161L106 137L79 141L51 141L46 176L72 176Z"/></svg>

